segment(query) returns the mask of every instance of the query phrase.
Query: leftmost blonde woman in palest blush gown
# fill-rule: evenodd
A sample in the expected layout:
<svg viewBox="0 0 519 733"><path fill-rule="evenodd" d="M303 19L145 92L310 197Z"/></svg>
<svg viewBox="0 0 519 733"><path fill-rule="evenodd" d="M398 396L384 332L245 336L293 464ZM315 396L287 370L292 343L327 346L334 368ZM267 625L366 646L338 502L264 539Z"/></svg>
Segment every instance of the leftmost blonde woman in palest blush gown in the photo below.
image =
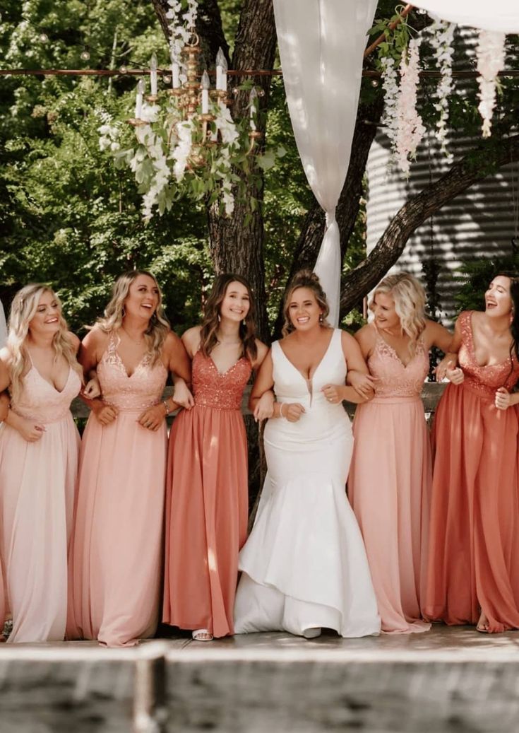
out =
<svg viewBox="0 0 519 733"><path fill-rule="evenodd" d="M9 641L64 638L79 448L70 402L83 380L78 346L50 287L18 291L0 351L0 391L10 392L0 430L0 557L13 621ZM89 394L96 394L93 385Z"/></svg>

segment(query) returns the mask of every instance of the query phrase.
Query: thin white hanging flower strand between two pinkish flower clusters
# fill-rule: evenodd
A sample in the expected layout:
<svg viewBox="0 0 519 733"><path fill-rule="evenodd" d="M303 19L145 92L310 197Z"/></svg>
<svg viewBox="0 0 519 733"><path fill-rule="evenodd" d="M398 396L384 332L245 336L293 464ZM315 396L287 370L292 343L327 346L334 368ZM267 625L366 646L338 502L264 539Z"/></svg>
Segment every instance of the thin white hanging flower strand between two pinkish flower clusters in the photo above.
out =
<svg viewBox="0 0 519 733"><path fill-rule="evenodd" d="M433 47L434 58L440 70L440 82L436 89L438 101L434 108L440 113L436 124L436 139L441 143L442 152L447 155L447 160L452 163L452 154L447 149L447 123L449 122L449 95L452 93L452 39L454 37L455 24L446 21L436 20L428 29L430 34L430 45Z"/></svg>

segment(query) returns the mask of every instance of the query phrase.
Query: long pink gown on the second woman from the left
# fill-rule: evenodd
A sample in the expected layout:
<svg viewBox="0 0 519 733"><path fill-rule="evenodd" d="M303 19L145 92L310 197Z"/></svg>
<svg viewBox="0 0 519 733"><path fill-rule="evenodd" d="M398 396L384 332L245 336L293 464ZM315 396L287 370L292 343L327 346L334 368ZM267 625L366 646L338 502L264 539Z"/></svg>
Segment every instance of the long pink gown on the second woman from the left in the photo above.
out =
<svg viewBox="0 0 519 733"><path fill-rule="evenodd" d="M153 636L158 621L166 426L138 416L163 394L167 370L149 355L131 376L111 335L97 366L102 396L119 413L102 426L94 415L81 447L69 572L67 638L108 647Z"/></svg>

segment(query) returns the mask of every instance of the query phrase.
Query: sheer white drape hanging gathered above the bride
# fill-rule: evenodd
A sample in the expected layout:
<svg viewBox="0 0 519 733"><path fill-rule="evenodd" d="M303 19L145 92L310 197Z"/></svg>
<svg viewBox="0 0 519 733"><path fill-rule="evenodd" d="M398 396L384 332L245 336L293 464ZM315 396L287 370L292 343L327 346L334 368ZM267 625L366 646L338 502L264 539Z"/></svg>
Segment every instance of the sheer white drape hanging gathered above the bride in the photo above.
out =
<svg viewBox="0 0 519 733"><path fill-rule="evenodd" d="M377 0L274 0L283 81L297 149L326 232L315 272L337 325L340 237L335 207L350 161L366 34Z"/></svg>

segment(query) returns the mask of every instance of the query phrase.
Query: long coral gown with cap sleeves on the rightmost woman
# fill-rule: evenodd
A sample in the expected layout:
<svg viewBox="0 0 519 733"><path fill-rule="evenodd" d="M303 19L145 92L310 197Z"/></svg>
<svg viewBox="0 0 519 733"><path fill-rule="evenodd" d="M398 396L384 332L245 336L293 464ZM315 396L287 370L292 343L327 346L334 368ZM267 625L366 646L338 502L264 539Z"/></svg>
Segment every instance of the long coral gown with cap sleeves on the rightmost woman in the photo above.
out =
<svg viewBox="0 0 519 733"><path fill-rule="evenodd" d="M496 389L519 378L514 357L480 367L471 312L460 314L460 366L433 427L435 451L424 615L490 632L519 628L519 410L498 410Z"/></svg>

